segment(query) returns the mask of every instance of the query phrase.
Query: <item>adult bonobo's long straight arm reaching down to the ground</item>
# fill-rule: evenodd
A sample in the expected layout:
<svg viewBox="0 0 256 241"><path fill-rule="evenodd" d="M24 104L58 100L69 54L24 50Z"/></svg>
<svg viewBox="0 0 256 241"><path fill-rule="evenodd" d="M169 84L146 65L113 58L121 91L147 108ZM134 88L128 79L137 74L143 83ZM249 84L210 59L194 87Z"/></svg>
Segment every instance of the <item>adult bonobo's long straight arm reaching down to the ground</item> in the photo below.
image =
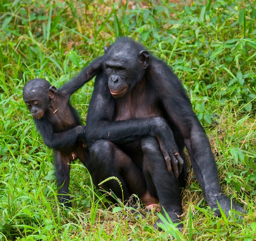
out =
<svg viewBox="0 0 256 241"><path fill-rule="evenodd" d="M153 59L148 68L149 78L154 83L154 88L168 117L184 138L193 169L207 203L211 208L218 209L216 199L222 194L216 161L204 129L192 110L186 91L177 76L162 61ZM218 199L219 203L224 199L225 202L229 202L230 209L230 201L226 197ZM222 208L228 209L227 205L222 205Z"/></svg>

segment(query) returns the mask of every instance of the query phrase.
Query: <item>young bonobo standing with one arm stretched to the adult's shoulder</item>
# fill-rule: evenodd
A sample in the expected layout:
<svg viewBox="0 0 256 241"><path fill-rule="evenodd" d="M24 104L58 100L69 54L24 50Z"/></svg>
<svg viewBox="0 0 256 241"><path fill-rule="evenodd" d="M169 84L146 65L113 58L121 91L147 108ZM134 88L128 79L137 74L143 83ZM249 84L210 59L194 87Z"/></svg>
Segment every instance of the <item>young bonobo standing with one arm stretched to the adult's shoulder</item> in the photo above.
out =
<svg viewBox="0 0 256 241"><path fill-rule="evenodd" d="M85 143L85 127L81 125L76 110L70 105L70 96L84 83L101 70L102 58L99 57L79 76L58 90L47 80L34 79L26 83L23 99L34 117L45 145L55 151L56 181L59 201L70 206L68 185L70 181L70 162L76 158L86 166L88 147Z"/></svg>

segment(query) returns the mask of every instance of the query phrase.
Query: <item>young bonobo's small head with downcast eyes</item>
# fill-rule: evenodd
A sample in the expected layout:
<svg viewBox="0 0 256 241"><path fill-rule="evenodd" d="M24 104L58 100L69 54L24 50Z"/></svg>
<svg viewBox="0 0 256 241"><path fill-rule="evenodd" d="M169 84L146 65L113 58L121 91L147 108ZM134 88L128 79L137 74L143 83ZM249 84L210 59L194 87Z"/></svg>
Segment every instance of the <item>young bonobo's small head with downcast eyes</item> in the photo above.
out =
<svg viewBox="0 0 256 241"><path fill-rule="evenodd" d="M40 119L49 108L49 102L56 97L57 89L47 80L34 79L26 83L22 94L31 115Z"/></svg>

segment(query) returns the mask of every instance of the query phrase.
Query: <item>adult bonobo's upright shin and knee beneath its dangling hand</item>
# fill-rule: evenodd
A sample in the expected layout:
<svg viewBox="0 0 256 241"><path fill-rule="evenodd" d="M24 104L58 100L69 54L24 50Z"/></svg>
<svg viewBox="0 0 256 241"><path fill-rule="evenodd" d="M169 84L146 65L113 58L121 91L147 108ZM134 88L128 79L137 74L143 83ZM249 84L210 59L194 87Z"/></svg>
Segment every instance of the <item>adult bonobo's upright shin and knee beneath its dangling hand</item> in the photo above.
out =
<svg viewBox="0 0 256 241"><path fill-rule="evenodd" d="M144 174L150 193L157 194L160 204L164 207L171 220L179 223L178 215L182 214L181 191L178 179L173 172L168 172L159 143L154 137L145 137L141 141L144 154ZM162 214L165 216L164 212ZM158 219L157 223L161 220ZM154 227L157 227L155 223ZM179 225L179 228L181 228Z"/></svg>

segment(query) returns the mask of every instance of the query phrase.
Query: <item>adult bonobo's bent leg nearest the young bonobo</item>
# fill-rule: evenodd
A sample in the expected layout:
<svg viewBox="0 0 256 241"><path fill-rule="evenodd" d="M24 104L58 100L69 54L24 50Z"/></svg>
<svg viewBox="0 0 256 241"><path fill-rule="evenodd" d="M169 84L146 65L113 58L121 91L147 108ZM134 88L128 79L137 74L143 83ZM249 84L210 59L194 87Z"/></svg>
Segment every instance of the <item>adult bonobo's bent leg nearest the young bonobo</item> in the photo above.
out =
<svg viewBox="0 0 256 241"><path fill-rule="evenodd" d="M124 201L128 200L133 193L141 196L146 192L146 181L142 171L130 156L110 141L99 140L93 143L90 147L87 167L97 187L101 181L110 176L116 176L122 184ZM119 199L122 199L121 188L116 180L106 181L102 187L104 190L111 190Z"/></svg>

